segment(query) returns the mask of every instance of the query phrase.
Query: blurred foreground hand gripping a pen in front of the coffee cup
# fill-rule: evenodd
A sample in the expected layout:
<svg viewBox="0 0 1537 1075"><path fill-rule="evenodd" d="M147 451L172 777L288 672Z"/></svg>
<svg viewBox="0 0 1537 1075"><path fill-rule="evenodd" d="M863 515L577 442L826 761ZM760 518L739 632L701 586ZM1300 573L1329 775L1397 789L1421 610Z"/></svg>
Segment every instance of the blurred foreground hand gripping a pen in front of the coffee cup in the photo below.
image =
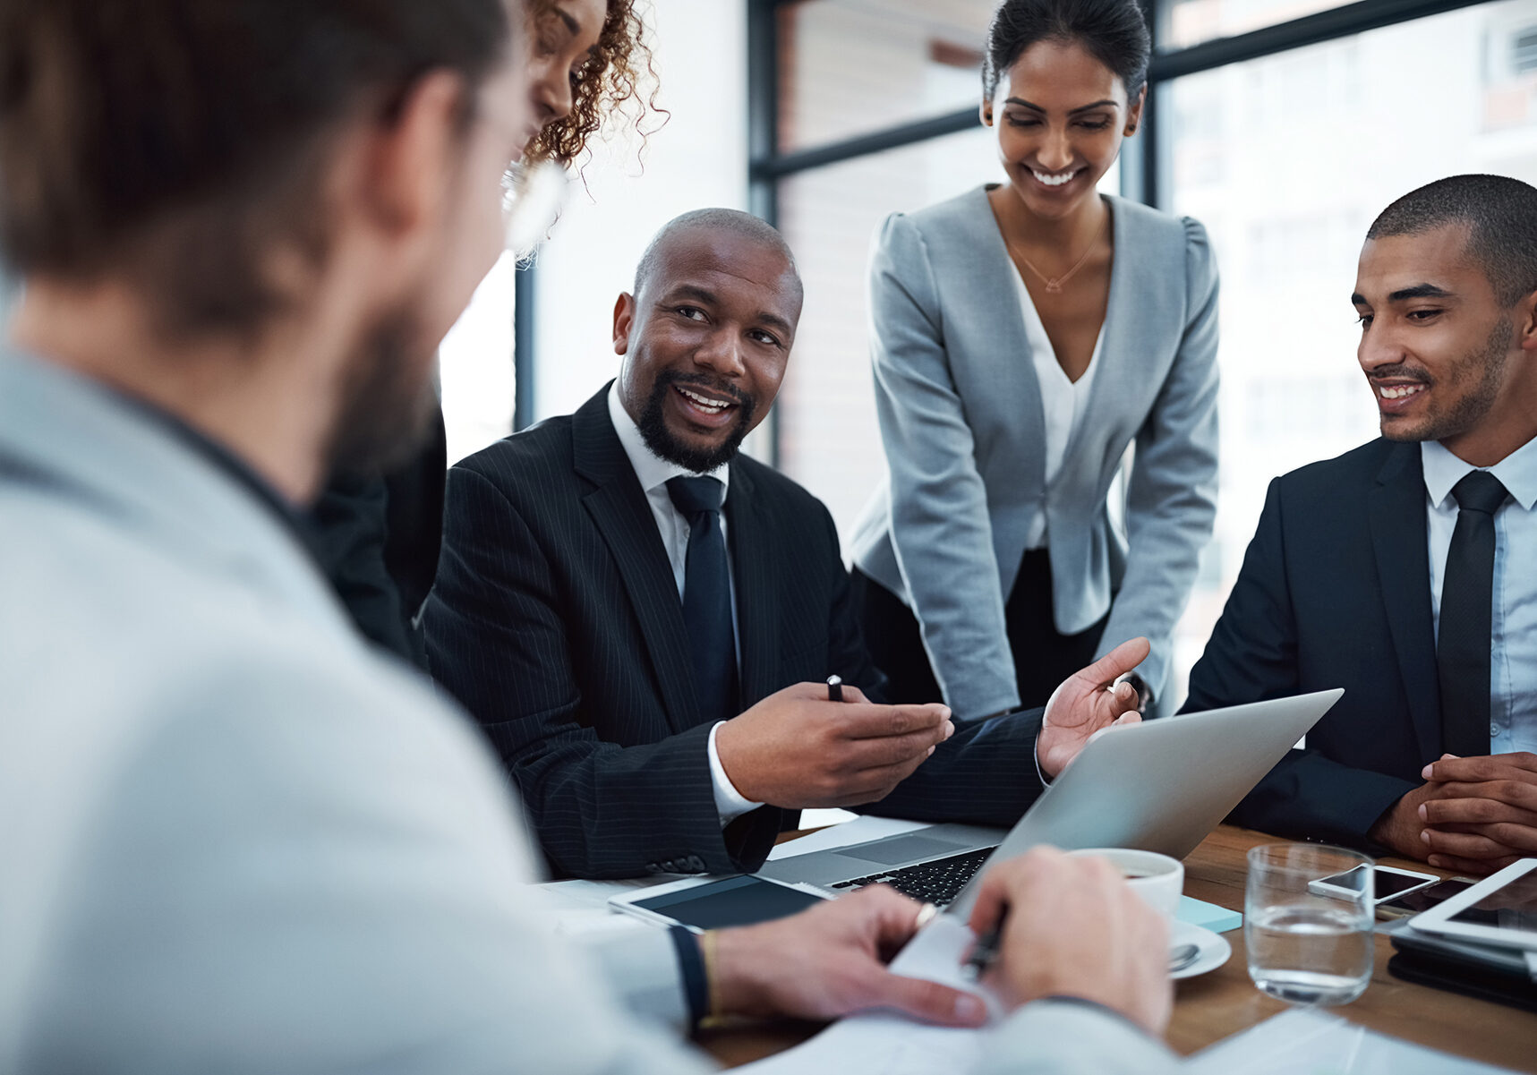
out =
<svg viewBox="0 0 1537 1075"><path fill-rule="evenodd" d="M1010 1007L1071 997L1162 1033L1173 1010L1168 927L1104 858L1034 847L988 869L970 926L994 955L967 961ZM984 941L978 943L978 949Z"/></svg>

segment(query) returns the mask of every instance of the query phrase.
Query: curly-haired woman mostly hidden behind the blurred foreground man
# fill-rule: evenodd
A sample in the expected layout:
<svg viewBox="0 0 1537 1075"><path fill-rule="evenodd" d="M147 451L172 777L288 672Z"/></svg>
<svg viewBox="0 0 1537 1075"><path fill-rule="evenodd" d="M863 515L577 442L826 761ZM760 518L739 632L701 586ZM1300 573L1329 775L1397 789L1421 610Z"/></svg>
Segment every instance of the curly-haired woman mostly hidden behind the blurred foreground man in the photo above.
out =
<svg viewBox="0 0 1537 1075"><path fill-rule="evenodd" d="M520 171L578 165L595 135L646 134L656 77L638 0L527 0L530 123ZM314 511L314 549L358 631L426 667L418 612L438 571L447 446L435 434L384 477L332 475Z"/></svg>

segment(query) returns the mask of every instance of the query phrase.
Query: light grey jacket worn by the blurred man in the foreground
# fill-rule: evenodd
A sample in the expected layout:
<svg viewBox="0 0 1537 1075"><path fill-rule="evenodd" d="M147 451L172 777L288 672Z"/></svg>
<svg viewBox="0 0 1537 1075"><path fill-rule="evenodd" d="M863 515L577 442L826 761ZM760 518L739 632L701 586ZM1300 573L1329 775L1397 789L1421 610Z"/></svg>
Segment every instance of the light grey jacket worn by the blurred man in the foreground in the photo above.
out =
<svg viewBox="0 0 1537 1075"><path fill-rule="evenodd" d="M360 641L277 514L3 352L0 594L0 1070L705 1067L633 1017L681 1020L667 935L550 934L472 724ZM1079 1007L1016 1020L1053 1066L1014 1070L1165 1057Z"/></svg>

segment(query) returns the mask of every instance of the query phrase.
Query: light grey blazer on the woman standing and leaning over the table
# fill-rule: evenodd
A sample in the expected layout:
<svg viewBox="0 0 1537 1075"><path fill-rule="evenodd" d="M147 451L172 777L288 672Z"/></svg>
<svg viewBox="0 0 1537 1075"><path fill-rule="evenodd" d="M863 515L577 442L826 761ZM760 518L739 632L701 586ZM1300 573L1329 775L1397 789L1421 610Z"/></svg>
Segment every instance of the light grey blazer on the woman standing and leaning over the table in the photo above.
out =
<svg viewBox="0 0 1537 1075"><path fill-rule="evenodd" d="M1044 506L1053 615L1147 635L1162 691L1217 492L1217 269L1205 229L1111 197L1114 263L1088 414L1045 483L1041 388L987 188L887 218L870 268L887 480L853 560L916 614L961 718L1019 704L1004 604ZM1136 443L1125 534L1108 494Z"/></svg>

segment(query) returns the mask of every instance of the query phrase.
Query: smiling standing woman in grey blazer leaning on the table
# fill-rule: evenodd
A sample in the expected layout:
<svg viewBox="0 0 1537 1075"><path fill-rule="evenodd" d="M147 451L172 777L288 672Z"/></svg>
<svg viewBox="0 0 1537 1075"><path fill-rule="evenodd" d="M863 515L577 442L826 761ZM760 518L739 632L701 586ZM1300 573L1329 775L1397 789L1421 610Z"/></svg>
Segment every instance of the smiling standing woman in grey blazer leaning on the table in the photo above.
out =
<svg viewBox="0 0 1537 1075"><path fill-rule="evenodd" d="M1137 635L1142 707L1162 691L1216 514L1217 268L1197 221L1096 189L1148 52L1134 0L1007 0L982 123L1008 181L876 238L888 481L853 560L893 698L962 720L1044 704ZM1107 500L1133 441L1124 538Z"/></svg>

